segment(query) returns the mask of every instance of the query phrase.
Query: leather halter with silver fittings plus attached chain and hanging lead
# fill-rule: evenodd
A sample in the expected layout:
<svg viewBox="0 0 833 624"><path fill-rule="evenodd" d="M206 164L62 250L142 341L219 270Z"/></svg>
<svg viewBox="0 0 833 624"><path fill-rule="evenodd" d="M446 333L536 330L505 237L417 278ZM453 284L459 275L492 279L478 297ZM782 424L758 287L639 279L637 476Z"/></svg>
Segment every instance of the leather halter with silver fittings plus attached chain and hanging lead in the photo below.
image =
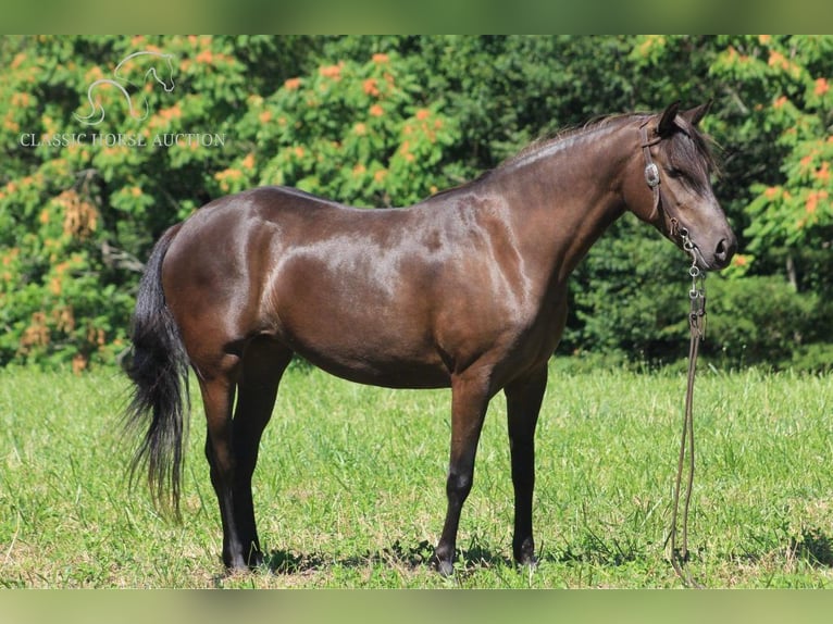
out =
<svg viewBox="0 0 833 624"><path fill-rule="evenodd" d="M662 140L662 137L658 135L656 138L648 140L649 122L650 118L646 120L639 126L639 146L642 148L643 158L645 159L645 182L648 187L650 187L654 195L654 211L651 213L651 217L655 217L659 211L659 204L662 201L662 191L660 189L661 179L659 177L659 167L657 167L654 159L650 155L650 148L651 146L659 143ZM668 210L668 205L664 208ZM688 237L688 230L685 227L679 227L679 222L674 217L671 217L670 223L671 236L680 236L683 241L683 250L692 257L692 265L688 269L688 275L692 278L692 287L688 290L688 299L691 302L691 311L688 313L691 340L688 345L688 380L685 394L685 415L683 417L683 432L680 440L676 478L674 481L671 527L669 529L668 538L666 539L666 545L670 542L671 565L674 567L674 572L676 572L683 584L686 586L699 587L700 585L697 583L697 581L694 579L687 571L683 570L683 566L688 561L688 508L691 506L692 489L694 487L694 377L700 340L704 338L706 333L706 273L700 271L699 266L697 266L695 245ZM677 548L676 525L680 509L680 490L683 481L683 470L686 454L688 455L688 465L686 471L687 478L685 489L685 503L683 507L683 544L681 548Z"/></svg>

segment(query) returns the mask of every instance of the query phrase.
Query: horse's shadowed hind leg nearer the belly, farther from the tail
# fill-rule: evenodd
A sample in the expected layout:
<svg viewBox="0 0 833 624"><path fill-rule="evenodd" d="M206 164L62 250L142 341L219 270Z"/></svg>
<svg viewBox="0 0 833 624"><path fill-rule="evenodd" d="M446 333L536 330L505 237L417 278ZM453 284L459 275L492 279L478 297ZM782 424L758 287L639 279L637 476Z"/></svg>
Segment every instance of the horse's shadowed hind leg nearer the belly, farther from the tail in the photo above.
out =
<svg viewBox="0 0 833 624"><path fill-rule="evenodd" d="M263 563L258 539L251 477L258 463L260 438L275 404L277 386L293 352L270 339L252 341L244 355L243 375L237 386L234 414L234 513L244 548L244 560L251 567Z"/></svg>

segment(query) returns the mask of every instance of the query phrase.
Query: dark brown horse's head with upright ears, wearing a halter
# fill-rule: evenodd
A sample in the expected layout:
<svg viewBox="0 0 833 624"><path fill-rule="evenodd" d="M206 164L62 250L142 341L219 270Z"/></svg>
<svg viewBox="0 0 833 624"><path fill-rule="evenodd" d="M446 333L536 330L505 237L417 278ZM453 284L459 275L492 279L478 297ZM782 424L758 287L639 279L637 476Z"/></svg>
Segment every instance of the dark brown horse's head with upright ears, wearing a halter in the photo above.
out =
<svg viewBox="0 0 833 624"><path fill-rule="evenodd" d="M645 175L629 180L625 201L681 248L693 245L689 253L700 269L720 270L732 259L737 239L711 188L714 161L697 129L708 108L680 112L673 103L642 122L637 160Z"/></svg>

